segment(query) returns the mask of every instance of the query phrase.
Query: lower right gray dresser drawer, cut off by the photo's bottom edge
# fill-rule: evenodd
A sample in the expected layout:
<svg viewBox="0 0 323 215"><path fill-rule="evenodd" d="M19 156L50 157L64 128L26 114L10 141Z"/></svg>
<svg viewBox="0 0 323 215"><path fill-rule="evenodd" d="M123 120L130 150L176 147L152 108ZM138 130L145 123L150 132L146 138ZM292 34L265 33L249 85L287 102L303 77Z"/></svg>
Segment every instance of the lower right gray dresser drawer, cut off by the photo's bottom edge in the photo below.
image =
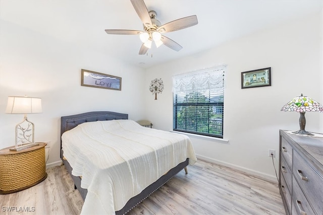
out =
<svg viewBox="0 0 323 215"><path fill-rule="evenodd" d="M311 206L309 205L304 193L302 192L301 188L299 187L295 177L293 177L293 194L292 194L292 201L295 204L295 208L297 213L293 214L315 214L312 210Z"/></svg>

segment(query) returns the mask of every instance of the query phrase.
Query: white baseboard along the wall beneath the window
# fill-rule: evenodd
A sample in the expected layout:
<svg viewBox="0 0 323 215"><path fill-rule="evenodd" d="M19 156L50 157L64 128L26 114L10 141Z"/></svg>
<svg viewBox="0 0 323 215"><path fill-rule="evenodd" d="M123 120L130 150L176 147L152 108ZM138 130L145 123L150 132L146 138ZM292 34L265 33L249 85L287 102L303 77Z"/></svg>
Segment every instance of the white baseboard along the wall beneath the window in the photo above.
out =
<svg viewBox="0 0 323 215"><path fill-rule="evenodd" d="M219 165L222 165L222 166L230 167L232 169L236 169L236 170L248 173L250 175L254 175L254 176L263 178L263 179L268 180L268 181L276 182L278 184L276 176L273 176L273 175L268 175L268 174L265 174L265 173L262 173L262 172L254 171L254 170L251 170L251 169L248 169L248 168L245 168L245 167L241 167L241 166L238 166L238 165L230 164L230 163L227 163L227 162L219 161L219 160L208 158L208 157L201 156L201 155L196 155L196 158L199 159L199 160L203 160L203 161L213 163L213 164L219 164Z"/></svg>

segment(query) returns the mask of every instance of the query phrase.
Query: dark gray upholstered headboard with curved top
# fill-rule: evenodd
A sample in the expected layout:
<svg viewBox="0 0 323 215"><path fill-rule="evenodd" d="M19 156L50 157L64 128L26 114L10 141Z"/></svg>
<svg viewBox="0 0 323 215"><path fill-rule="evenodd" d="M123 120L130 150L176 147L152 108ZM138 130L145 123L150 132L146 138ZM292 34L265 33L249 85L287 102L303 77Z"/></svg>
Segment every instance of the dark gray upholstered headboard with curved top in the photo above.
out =
<svg viewBox="0 0 323 215"><path fill-rule="evenodd" d="M126 113L116 113L111 111L93 111L80 113L71 116L61 117L61 137L65 131L71 130L84 122L105 121L114 119L128 119ZM62 158L62 139L61 139L61 158Z"/></svg>

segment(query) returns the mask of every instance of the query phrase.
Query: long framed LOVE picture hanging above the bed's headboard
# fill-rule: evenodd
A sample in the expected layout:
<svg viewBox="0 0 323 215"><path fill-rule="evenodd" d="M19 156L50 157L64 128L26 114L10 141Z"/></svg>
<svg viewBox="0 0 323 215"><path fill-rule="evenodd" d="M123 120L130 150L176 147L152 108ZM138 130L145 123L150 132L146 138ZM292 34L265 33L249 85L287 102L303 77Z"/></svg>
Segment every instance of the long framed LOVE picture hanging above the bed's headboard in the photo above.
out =
<svg viewBox="0 0 323 215"><path fill-rule="evenodd" d="M121 90L121 78L82 69L81 86Z"/></svg>

